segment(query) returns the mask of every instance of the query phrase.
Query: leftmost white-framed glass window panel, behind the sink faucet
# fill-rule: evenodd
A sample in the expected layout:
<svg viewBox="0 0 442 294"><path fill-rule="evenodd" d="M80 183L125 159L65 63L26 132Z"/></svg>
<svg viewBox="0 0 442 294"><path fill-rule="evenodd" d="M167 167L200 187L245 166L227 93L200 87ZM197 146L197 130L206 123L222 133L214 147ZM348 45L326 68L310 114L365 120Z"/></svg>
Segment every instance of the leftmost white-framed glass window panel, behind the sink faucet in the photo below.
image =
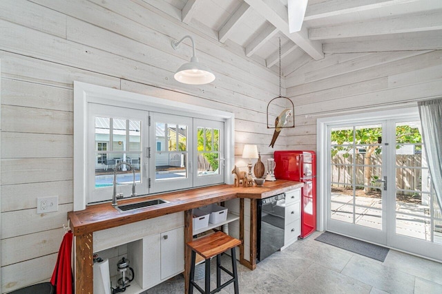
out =
<svg viewBox="0 0 442 294"><path fill-rule="evenodd" d="M147 175L140 169L142 147L147 145L147 134L142 134L142 125L148 114L137 109L126 109L107 105L90 104L95 116L90 120L90 142L95 142L93 156L95 166L90 166L94 181L88 182L88 203L112 200L113 177L116 192L123 198L131 197L135 171L135 193L148 193ZM131 166L125 165L126 162ZM133 167L133 169L131 168Z"/></svg>

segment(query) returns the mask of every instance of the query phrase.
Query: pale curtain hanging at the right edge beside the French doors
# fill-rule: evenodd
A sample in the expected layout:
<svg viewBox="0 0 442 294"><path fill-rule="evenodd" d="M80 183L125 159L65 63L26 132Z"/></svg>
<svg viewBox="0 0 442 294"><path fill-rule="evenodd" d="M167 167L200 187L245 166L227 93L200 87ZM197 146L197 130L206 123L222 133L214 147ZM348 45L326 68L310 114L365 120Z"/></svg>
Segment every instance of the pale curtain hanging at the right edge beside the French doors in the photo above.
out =
<svg viewBox="0 0 442 294"><path fill-rule="evenodd" d="M442 210L442 98L421 101L418 105L428 168Z"/></svg>

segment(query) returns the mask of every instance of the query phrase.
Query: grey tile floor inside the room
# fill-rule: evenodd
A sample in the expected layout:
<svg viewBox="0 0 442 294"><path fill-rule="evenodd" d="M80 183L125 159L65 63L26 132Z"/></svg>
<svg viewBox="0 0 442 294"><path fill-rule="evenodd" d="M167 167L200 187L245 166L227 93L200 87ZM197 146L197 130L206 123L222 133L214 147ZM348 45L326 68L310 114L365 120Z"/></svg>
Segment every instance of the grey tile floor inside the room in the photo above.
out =
<svg viewBox="0 0 442 294"><path fill-rule="evenodd" d="M385 262L378 262L314 240L318 235L273 253L255 271L238 264L240 293L442 293L441 263L394 250ZM231 269L230 257L223 255L222 264ZM214 275L211 281L214 289ZM198 284L203 286L204 279ZM184 277L177 275L144 292L162 293L184 293ZM195 289L194 293L199 292ZM219 293L233 293L233 284Z"/></svg>

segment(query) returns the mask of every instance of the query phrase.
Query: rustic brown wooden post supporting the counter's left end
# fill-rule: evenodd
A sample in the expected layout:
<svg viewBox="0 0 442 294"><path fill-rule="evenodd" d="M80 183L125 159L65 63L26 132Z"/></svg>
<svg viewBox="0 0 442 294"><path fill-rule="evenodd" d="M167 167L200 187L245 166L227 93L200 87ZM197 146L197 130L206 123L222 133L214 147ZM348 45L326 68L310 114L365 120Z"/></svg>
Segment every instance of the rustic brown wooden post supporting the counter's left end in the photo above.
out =
<svg viewBox="0 0 442 294"><path fill-rule="evenodd" d="M92 294L93 233L75 236L75 293Z"/></svg>

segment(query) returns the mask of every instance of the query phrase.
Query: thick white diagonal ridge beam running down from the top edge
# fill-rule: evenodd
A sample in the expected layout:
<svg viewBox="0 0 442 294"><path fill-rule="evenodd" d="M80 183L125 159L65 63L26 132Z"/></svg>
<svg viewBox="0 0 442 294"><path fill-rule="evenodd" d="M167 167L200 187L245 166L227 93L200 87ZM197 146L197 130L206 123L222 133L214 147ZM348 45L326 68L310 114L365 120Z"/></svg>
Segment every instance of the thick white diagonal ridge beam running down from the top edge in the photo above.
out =
<svg viewBox="0 0 442 294"><path fill-rule="evenodd" d="M262 15L275 28L285 34L291 41L304 50L314 59L323 59L324 54L322 44L318 41L309 40L306 28L302 28L300 32L289 32L289 17L287 7L285 7L279 0L244 0Z"/></svg>

